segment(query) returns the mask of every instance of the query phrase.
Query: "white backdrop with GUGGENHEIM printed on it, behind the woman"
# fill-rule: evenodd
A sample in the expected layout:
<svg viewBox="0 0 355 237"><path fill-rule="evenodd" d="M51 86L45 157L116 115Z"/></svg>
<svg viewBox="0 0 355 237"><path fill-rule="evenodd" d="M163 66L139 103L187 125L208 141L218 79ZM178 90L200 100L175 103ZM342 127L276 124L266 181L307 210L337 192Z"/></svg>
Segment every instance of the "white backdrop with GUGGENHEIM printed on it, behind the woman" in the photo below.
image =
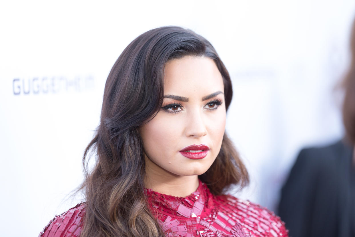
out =
<svg viewBox="0 0 355 237"><path fill-rule="evenodd" d="M235 195L275 210L299 149L343 134L333 88L353 17L353 0L2 2L1 236L37 236L81 200L67 194L82 181L111 66L166 25L206 37L224 61L227 131L251 176Z"/></svg>

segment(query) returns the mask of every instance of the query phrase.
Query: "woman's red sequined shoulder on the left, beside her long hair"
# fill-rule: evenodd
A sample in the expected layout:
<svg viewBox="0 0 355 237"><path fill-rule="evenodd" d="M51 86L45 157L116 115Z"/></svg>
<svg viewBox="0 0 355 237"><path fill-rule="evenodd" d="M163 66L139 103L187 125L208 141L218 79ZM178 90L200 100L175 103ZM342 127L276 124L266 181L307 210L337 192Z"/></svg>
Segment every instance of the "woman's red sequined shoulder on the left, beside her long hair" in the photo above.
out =
<svg viewBox="0 0 355 237"><path fill-rule="evenodd" d="M85 204L80 203L55 216L38 237L78 237L81 233Z"/></svg>

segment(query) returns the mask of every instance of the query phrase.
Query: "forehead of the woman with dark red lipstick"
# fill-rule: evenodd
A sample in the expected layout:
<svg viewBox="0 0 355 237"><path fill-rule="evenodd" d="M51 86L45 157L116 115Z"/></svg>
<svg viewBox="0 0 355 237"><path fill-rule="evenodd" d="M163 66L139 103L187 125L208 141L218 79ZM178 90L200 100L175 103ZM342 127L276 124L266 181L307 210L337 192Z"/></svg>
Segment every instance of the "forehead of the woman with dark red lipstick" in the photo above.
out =
<svg viewBox="0 0 355 237"><path fill-rule="evenodd" d="M222 75L211 58L185 56L165 65L164 94L208 94L223 89Z"/></svg>

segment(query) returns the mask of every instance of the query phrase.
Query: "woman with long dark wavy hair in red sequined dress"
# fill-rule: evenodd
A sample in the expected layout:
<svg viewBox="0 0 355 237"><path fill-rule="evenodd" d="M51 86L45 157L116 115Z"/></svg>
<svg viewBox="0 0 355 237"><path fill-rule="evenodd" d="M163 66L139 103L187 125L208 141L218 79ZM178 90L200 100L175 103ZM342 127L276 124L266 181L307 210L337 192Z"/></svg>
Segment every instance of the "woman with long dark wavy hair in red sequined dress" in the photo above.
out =
<svg viewBox="0 0 355 237"><path fill-rule="evenodd" d="M223 194L249 181L224 131L231 98L228 71L203 37L180 27L137 37L105 85L83 158L97 156L86 202L40 236L287 236L279 217Z"/></svg>

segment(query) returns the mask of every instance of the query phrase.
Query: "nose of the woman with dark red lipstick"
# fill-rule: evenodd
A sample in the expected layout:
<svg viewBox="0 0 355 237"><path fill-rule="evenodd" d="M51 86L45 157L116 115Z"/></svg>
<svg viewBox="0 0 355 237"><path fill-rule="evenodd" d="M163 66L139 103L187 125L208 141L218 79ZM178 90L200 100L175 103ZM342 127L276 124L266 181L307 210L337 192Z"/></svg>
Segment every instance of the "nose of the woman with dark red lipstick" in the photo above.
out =
<svg viewBox="0 0 355 237"><path fill-rule="evenodd" d="M193 112L189 114L186 125L186 136L201 138L207 135L206 124L203 121L203 112Z"/></svg>

